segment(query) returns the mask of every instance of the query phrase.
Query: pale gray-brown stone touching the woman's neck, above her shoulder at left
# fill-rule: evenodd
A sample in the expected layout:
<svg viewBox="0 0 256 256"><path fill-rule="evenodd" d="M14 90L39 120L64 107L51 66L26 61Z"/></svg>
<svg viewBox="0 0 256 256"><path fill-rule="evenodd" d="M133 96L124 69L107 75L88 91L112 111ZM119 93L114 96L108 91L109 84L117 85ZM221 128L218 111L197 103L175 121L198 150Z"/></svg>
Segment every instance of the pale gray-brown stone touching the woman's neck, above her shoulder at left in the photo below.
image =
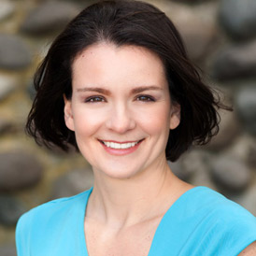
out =
<svg viewBox="0 0 256 256"><path fill-rule="evenodd" d="M93 174L91 168L70 170L53 182L50 199L72 196L90 189L92 185Z"/></svg>

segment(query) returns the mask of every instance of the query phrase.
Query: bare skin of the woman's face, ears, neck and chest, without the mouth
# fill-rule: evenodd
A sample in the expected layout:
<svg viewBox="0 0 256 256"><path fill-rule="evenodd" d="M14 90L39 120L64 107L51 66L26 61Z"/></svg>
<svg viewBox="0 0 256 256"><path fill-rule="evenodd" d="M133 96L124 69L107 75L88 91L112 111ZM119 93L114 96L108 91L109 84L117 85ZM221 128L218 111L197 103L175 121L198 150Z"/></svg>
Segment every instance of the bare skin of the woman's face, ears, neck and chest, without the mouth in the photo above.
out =
<svg viewBox="0 0 256 256"><path fill-rule="evenodd" d="M165 159L180 107L171 102L164 64L141 47L92 45L74 61L72 90L65 123L94 173L84 222L89 254L148 255L164 213L192 189ZM142 141L123 153L101 140Z"/></svg>

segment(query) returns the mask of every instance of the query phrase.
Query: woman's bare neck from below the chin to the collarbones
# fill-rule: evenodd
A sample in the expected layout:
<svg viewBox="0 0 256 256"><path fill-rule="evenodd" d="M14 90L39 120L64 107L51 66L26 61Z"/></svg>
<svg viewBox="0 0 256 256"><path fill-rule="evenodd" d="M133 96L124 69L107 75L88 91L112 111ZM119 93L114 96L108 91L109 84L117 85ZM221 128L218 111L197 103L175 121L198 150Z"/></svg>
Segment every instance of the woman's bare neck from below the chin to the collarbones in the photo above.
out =
<svg viewBox="0 0 256 256"><path fill-rule="evenodd" d="M133 178L109 178L94 171L87 217L118 229L154 218L178 198L182 181L164 160Z"/></svg>

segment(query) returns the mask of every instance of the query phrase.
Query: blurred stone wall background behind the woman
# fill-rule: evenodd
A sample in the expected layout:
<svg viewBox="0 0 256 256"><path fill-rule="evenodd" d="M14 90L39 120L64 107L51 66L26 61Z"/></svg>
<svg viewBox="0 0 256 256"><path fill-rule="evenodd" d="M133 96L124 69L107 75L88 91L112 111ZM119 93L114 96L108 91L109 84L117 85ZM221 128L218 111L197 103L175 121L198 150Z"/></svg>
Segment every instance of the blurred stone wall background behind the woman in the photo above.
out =
<svg viewBox="0 0 256 256"><path fill-rule="evenodd" d="M33 74L54 36L95 1L0 0L0 255L15 252L21 214L92 186L75 152L44 149L24 134ZM179 178L210 187L256 215L256 1L150 0L177 25L192 62L234 112L220 134L171 164Z"/></svg>

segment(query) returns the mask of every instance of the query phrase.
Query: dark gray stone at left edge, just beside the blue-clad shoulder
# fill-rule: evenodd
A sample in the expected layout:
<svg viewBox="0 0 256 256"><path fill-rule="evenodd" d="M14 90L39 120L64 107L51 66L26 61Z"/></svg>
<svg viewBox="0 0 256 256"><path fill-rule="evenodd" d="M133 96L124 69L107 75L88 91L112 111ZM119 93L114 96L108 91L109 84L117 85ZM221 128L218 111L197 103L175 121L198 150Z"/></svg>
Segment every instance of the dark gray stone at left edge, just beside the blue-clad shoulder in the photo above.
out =
<svg viewBox="0 0 256 256"><path fill-rule="evenodd" d="M14 226L26 209L18 199L10 195L0 195L0 223ZM2 255L2 254L1 254Z"/></svg>

